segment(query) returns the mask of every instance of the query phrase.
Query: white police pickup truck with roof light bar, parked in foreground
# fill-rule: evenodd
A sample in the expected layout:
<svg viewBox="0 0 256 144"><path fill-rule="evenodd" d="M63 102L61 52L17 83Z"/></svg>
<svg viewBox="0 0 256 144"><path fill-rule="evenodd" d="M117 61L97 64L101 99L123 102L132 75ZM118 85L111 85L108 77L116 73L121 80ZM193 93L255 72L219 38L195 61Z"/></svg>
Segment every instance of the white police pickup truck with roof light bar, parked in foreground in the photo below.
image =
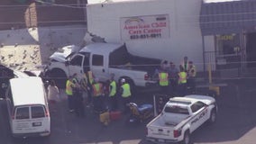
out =
<svg viewBox="0 0 256 144"><path fill-rule="evenodd" d="M187 95L170 98L162 112L147 124L146 139L155 143L181 142L189 144L190 134L204 122L216 121L215 98Z"/></svg>

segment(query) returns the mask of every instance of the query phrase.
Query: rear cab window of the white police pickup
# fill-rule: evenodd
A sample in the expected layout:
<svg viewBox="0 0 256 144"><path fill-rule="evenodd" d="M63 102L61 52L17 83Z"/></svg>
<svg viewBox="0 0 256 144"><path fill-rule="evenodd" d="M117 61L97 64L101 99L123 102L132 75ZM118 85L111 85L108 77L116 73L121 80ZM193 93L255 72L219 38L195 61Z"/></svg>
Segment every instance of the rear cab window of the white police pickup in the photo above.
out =
<svg viewBox="0 0 256 144"><path fill-rule="evenodd" d="M169 113L179 113L179 114L189 114L187 106L175 105L175 104L168 104L164 108L164 112Z"/></svg>

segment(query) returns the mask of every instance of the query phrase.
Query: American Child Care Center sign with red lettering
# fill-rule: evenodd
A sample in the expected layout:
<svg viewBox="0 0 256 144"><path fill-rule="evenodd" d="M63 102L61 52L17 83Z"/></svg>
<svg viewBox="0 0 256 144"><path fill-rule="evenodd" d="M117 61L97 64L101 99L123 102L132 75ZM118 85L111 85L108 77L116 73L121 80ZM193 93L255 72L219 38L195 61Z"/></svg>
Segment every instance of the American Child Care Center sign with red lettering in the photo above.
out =
<svg viewBox="0 0 256 144"><path fill-rule="evenodd" d="M121 18L121 39L142 40L169 38L169 15Z"/></svg>

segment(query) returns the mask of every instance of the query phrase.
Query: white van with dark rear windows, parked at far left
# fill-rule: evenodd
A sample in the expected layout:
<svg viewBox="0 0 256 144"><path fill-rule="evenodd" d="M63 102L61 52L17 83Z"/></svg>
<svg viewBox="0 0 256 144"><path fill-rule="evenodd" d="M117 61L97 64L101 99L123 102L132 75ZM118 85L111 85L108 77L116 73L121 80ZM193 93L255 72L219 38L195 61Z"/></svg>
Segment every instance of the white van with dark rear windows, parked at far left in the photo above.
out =
<svg viewBox="0 0 256 144"><path fill-rule="evenodd" d="M5 96L14 137L50 135L50 112L41 77L10 79Z"/></svg>

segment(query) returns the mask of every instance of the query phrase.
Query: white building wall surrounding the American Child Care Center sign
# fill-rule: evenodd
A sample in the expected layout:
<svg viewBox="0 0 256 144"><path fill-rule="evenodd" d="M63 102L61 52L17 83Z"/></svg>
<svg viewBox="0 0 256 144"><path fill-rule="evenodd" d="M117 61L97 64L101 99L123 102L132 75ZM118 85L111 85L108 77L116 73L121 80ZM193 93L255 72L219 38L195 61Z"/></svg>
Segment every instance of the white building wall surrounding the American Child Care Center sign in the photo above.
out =
<svg viewBox="0 0 256 144"><path fill-rule="evenodd" d="M203 69L203 43L199 27L201 0L142 0L87 4L87 30L107 42L125 42L136 55L163 58L177 65L184 56ZM121 40L122 17L169 14L169 38ZM214 50L214 39L206 40L207 49ZM208 46L210 45L210 46Z"/></svg>

